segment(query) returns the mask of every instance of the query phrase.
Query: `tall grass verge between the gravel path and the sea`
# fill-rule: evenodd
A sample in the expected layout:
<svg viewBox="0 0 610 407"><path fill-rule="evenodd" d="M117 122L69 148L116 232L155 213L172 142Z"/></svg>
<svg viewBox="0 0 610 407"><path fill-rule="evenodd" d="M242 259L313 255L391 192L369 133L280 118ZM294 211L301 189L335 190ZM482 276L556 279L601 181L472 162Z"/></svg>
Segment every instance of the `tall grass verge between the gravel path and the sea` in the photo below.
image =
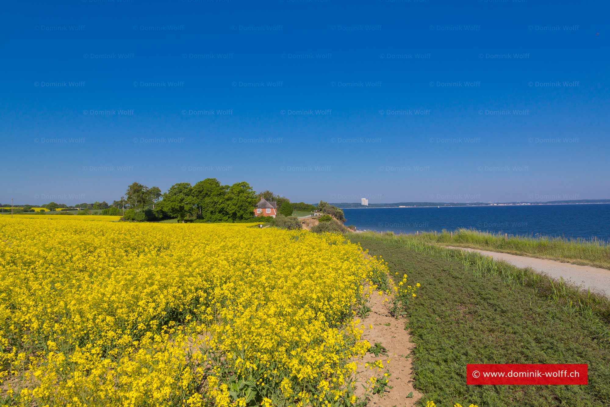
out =
<svg viewBox="0 0 610 407"><path fill-rule="evenodd" d="M415 238L428 243L439 243L462 248L484 249L518 255L559 260L580 265L610 269L610 246L600 240L567 240L563 238L533 238L460 229L435 235L421 233Z"/></svg>

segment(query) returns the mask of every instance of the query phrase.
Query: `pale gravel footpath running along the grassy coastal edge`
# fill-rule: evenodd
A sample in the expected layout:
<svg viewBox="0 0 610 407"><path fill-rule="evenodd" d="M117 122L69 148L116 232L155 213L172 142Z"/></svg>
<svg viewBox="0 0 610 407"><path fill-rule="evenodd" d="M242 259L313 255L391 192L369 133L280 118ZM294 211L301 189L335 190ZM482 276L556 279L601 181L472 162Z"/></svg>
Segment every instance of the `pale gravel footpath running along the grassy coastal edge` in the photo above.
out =
<svg viewBox="0 0 610 407"><path fill-rule="evenodd" d="M603 293L610 296L610 270L592 266L579 266L570 263L557 262L555 260L536 259L520 255L490 252L486 250L457 248L455 246L445 246L448 249L460 249L468 252L479 252L486 256L491 256L495 260L504 260L519 268L529 267L538 272L548 274L554 279L563 277L566 282L579 285L585 290L590 288L591 292Z"/></svg>

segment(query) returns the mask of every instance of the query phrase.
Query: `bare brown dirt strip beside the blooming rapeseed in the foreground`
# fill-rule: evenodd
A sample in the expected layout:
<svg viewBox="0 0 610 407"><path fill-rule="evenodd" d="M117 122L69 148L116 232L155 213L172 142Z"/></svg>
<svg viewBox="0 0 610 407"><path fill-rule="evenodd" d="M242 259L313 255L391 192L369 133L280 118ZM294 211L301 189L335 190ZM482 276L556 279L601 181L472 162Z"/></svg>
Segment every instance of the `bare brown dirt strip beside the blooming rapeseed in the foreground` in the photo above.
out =
<svg viewBox="0 0 610 407"><path fill-rule="evenodd" d="M357 373L360 383L363 383L370 378L371 370L365 368L365 363L372 363L379 359L382 360L385 368L390 372L390 386L392 389L386 388L382 394L373 395L369 406L378 407L411 407L415 402L422 397L422 394L413 388L411 383L411 358L408 357L411 349L415 346L411 343L411 336L404 330L404 318L396 319L390 315L389 302L385 299L390 299L387 295L378 295L378 292L373 292L369 299L368 306L371 307L371 312L366 318L361 319L364 325L363 339L371 343L371 347L375 346L376 342L381 343L386 348L387 354L383 356L375 356L372 353L367 353L363 359L358 362ZM370 326L373 326L371 329ZM387 361L390 361L387 363ZM359 389L356 390L357 395L362 395L364 389L358 384ZM407 398L410 392L413 392L412 397Z"/></svg>

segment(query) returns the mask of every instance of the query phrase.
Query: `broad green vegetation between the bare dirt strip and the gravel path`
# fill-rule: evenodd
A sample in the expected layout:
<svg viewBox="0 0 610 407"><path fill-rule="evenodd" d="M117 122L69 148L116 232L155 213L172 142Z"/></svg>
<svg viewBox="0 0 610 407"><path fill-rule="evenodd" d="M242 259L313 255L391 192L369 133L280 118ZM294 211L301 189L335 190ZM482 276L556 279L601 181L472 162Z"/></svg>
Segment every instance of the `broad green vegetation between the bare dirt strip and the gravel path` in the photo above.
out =
<svg viewBox="0 0 610 407"><path fill-rule="evenodd" d="M419 238L348 234L422 287L407 309L414 385L439 407L608 406L610 304L533 271ZM586 363L588 386L467 386L468 363ZM391 383L390 383L391 384Z"/></svg>

